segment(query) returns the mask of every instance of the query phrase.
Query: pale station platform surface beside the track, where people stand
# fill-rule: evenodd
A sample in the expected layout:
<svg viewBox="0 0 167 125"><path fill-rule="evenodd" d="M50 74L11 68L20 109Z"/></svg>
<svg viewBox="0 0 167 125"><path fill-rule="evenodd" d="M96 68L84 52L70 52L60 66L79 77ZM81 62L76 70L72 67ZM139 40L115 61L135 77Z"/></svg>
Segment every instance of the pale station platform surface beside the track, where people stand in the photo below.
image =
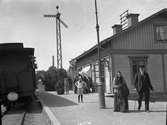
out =
<svg viewBox="0 0 167 125"><path fill-rule="evenodd" d="M166 125L166 103L150 103L150 112L140 112L137 102L129 101L129 113L113 112L113 98L105 97L106 109L99 109L98 94L85 94L84 103L77 95L57 95L56 92L38 92L43 103L61 125Z"/></svg>

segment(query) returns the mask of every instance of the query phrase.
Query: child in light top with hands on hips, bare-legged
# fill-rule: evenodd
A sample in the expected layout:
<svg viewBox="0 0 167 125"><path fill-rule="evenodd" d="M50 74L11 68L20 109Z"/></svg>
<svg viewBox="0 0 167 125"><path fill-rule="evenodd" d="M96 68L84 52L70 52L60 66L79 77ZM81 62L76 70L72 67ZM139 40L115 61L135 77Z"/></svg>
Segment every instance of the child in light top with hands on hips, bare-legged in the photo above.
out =
<svg viewBox="0 0 167 125"><path fill-rule="evenodd" d="M77 93L78 93L78 103L83 103L83 89L84 86L86 86L86 83L82 80L82 76L78 76L78 81L75 83L77 87Z"/></svg>

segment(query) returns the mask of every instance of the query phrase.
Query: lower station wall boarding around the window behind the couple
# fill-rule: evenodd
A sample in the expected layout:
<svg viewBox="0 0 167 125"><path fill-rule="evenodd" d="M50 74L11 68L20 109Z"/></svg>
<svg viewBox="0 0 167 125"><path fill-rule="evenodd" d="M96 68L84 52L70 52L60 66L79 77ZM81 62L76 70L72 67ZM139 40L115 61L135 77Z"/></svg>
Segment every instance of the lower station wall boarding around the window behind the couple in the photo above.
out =
<svg viewBox="0 0 167 125"><path fill-rule="evenodd" d="M141 54L136 55L114 55L114 69L115 71L121 71L125 80L127 82L128 88L130 91L134 88L134 85L131 81L131 71L130 71L130 62L128 56L142 56ZM146 54L143 54L146 56ZM147 55L148 63L147 70L150 75L150 79L155 92L164 91L164 81L163 81L163 69L162 69L162 57L161 55ZM167 59L167 56L165 57Z"/></svg>

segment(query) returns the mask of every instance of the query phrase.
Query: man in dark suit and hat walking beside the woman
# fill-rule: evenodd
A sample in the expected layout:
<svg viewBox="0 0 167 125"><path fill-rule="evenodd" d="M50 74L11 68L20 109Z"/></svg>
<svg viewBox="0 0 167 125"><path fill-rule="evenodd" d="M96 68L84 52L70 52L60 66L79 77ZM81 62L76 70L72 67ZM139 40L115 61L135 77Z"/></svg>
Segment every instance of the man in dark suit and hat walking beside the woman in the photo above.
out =
<svg viewBox="0 0 167 125"><path fill-rule="evenodd" d="M138 110L141 108L143 95L145 96L145 111L149 111L149 99L150 99L150 89L153 87L150 82L148 73L144 70L144 67L139 67L139 72L135 76L134 85L138 92Z"/></svg>

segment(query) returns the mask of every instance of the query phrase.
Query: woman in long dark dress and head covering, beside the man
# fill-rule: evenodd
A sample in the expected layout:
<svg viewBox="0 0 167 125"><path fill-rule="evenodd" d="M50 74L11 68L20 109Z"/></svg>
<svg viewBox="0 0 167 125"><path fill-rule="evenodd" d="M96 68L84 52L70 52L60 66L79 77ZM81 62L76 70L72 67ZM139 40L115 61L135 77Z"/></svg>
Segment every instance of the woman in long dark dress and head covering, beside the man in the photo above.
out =
<svg viewBox="0 0 167 125"><path fill-rule="evenodd" d="M114 111L128 112L129 110L129 105L128 105L129 89L120 71L118 71L116 76L114 77L113 84L115 88L118 90L118 93L117 93L118 95L116 97L117 99L114 102L115 103Z"/></svg>

